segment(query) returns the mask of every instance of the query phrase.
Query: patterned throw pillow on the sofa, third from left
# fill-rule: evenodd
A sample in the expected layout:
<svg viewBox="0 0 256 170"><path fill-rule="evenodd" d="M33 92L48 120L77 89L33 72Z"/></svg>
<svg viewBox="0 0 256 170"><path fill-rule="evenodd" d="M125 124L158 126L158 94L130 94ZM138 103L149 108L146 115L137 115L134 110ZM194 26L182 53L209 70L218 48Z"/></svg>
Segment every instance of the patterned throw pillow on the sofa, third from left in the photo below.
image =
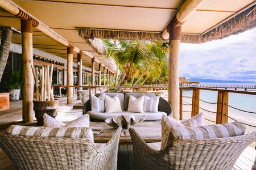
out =
<svg viewBox="0 0 256 170"><path fill-rule="evenodd" d="M130 96L127 112L144 113L144 96L138 99Z"/></svg>

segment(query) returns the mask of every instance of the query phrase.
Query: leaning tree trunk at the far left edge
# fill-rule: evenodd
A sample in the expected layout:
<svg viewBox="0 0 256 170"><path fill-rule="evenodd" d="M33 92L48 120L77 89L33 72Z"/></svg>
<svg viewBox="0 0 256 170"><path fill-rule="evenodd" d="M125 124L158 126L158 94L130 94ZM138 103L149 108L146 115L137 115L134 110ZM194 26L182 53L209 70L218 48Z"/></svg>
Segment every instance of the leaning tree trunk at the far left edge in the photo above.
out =
<svg viewBox="0 0 256 170"><path fill-rule="evenodd" d="M11 28L3 28L0 46L0 82L9 56L12 36L13 30Z"/></svg>

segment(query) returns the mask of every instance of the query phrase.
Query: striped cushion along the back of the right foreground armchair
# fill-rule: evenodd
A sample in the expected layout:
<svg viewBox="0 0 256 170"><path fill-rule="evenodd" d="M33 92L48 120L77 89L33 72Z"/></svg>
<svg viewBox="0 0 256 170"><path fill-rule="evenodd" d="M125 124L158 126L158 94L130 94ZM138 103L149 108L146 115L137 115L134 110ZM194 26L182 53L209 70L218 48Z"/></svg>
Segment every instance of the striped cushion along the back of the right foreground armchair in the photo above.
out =
<svg viewBox="0 0 256 170"><path fill-rule="evenodd" d="M243 134L245 134L245 126L240 122L188 128L176 127L170 129L163 148L174 139L216 139Z"/></svg>

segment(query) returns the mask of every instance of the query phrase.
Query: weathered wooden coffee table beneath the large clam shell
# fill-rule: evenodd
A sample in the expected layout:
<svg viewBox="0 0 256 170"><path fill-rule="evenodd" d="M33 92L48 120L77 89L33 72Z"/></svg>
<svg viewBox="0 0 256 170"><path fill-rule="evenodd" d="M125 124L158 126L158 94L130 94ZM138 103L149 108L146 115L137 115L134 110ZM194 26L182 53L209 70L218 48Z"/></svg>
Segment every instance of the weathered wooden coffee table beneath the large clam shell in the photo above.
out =
<svg viewBox="0 0 256 170"><path fill-rule="evenodd" d="M90 122L90 127L101 127L103 130L100 134L94 134L95 143L106 143L113 136L117 128L109 126L105 122ZM139 122L135 126L131 126L146 141L161 142L161 122ZM123 129L119 139L119 145L131 145L131 137L128 129Z"/></svg>

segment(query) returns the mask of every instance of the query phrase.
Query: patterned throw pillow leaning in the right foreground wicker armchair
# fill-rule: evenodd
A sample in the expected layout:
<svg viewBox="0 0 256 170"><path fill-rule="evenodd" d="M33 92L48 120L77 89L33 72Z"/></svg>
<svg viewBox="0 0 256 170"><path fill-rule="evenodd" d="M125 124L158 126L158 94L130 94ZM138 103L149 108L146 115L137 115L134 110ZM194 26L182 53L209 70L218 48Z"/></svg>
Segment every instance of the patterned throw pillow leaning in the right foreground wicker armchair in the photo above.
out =
<svg viewBox="0 0 256 170"><path fill-rule="evenodd" d="M203 126L204 125L204 114L199 113L194 117L188 118L184 121L177 121L175 118L162 115L162 142L161 142L161 148L163 146L167 145L167 135L169 134L169 131L171 128L176 127L197 127L197 126Z"/></svg>

